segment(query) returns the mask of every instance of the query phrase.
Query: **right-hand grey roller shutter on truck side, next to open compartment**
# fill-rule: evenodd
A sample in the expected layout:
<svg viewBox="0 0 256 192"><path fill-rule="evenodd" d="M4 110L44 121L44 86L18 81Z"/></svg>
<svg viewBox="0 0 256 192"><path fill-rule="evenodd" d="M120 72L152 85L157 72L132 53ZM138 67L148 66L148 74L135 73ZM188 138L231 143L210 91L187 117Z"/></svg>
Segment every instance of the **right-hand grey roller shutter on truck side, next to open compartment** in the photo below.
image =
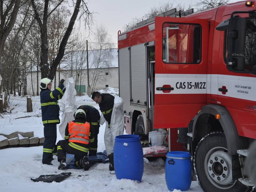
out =
<svg viewBox="0 0 256 192"><path fill-rule="evenodd" d="M132 100L147 101L146 48L144 44L131 47Z"/></svg>

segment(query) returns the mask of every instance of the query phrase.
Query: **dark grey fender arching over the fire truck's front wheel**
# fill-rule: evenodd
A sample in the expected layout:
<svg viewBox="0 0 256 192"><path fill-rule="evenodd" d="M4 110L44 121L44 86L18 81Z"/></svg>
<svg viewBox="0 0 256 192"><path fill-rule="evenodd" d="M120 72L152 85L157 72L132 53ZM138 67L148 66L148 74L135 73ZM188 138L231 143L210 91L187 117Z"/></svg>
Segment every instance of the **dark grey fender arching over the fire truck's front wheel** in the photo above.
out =
<svg viewBox="0 0 256 192"><path fill-rule="evenodd" d="M193 138L192 138L193 141L195 139L194 133L196 131L196 122L202 114L211 114L214 116L216 114L220 114L219 122L224 131L226 141L227 141L228 153L230 155L236 155L237 149L248 148L248 140L238 135L235 123L233 122L233 119L230 116L228 110L223 106L214 105L214 104L203 106L201 108L201 111L194 118Z"/></svg>

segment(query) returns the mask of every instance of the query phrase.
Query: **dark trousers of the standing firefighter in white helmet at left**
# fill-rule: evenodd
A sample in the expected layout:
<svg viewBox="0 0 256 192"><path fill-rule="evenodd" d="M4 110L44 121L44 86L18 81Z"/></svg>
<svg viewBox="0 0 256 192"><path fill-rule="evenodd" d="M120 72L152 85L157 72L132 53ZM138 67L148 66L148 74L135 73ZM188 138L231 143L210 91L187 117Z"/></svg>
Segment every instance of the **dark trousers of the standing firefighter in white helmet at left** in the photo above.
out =
<svg viewBox="0 0 256 192"><path fill-rule="evenodd" d="M56 139L57 139L56 123L45 124L42 162L52 161L52 152L55 147Z"/></svg>

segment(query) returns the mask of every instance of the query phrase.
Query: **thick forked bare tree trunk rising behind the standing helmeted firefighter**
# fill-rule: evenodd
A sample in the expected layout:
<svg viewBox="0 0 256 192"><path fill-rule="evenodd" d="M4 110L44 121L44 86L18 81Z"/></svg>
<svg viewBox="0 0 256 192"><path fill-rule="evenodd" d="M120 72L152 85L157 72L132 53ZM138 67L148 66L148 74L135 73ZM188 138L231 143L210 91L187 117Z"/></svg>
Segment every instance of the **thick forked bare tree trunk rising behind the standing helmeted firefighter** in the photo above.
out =
<svg viewBox="0 0 256 192"><path fill-rule="evenodd" d="M68 42L68 38L72 32L73 26L75 24L78 12L81 10L79 19L81 17L84 18L85 24L87 26L90 26L92 24L92 12L89 11L87 7L87 3L84 2L84 0L76 0L76 4L74 7L74 12L69 20L69 24L67 27L67 30L60 42L59 50L57 53L57 56L53 59L52 65L49 66L48 63L48 33L47 33L47 23L48 23L48 18L54 12L60 4L63 3L64 0L60 0L58 2L55 2L55 4L50 4L52 1L45 0L44 1L44 12L43 12L43 17L40 18L40 14L37 10L37 7L40 2L36 4L35 0L31 0L32 7L35 12L35 18L38 22L38 25L40 27L40 32L41 32L41 56L40 56L40 68L41 68L41 76L42 78L49 76L50 78L53 79L56 73L56 69L58 64L60 63L60 60L63 58L64 51L66 44ZM50 71L49 71L50 67Z"/></svg>

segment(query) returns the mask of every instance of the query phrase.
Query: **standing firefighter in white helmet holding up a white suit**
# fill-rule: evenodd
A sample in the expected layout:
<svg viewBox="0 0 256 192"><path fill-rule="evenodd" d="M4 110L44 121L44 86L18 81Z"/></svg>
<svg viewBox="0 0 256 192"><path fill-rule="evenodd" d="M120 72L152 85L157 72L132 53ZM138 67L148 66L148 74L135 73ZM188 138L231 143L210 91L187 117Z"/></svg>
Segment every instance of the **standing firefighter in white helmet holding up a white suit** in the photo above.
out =
<svg viewBox="0 0 256 192"><path fill-rule="evenodd" d="M64 79L60 80L60 85L54 91L51 91L52 80L50 78L41 79L39 86L45 138L42 163L52 165L52 153L57 138L57 124L60 123L58 100L62 98L65 92Z"/></svg>

